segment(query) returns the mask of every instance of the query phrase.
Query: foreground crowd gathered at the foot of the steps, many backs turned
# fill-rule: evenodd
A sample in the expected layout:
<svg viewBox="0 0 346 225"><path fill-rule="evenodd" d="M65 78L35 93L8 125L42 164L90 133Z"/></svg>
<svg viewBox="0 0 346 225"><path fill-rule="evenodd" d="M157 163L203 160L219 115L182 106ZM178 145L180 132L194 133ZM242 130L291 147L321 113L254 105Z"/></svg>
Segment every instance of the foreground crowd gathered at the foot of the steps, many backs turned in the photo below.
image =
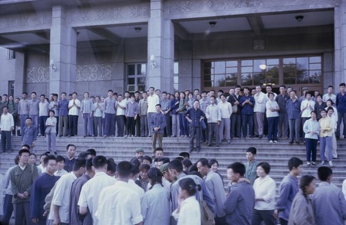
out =
<svg viewBox="0 0 346 225"><path fill-rule="evenodd" d="M302 160L288 160L289 174L276 184L271 165L257 162L256 148L246 150L246 163L227 166L228 188L216 159L191 162L182 152L174 159L156 148L154 158L137 148L129 161L88 149L77 155L66 146L66 157L36 155L24 145L3 179L6 189L1 224L344 224L343 190L331 182L328 166L316 177L302 175ZM298 182L300 176L300 182ZM298 185L299 184L299 185Z"/></svg>

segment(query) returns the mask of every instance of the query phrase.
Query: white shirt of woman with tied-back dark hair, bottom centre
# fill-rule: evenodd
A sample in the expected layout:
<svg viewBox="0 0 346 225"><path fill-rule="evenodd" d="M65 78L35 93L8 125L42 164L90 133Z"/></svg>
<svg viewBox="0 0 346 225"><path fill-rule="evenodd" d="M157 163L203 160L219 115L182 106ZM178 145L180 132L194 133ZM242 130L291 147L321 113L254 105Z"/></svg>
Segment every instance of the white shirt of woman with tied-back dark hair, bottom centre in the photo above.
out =
<svg viewBox="0 0 346 225"><path fill-rule="evenodd" d="M196 197L193 195L181 202L179 213L175 210L172 216L178 220L177 225L201 225L201 209Z"/></svg>

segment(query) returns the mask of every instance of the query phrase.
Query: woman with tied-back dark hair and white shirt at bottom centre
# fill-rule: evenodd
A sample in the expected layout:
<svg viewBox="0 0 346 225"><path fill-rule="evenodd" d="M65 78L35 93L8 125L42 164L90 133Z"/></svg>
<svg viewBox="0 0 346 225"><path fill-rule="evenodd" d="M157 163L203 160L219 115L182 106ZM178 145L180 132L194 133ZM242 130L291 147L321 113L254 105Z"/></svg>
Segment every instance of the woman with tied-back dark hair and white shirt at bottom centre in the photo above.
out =
<svg viewBox="0 0 346 225"><path fill-rule="evenodd" d="M172 216L178 221L177 225L201 225L201 208L194 194L201 190L191 178L179 180L178 208Z"/></svg>

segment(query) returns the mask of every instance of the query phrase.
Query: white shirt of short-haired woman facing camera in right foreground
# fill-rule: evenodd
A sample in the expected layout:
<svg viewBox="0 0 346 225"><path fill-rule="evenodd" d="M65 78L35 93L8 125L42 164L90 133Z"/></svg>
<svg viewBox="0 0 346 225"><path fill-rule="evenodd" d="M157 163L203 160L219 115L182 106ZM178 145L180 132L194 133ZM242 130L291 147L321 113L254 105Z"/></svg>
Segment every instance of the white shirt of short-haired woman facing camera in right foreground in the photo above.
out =
<svg viewBox="0 0 346 225"><path fill-rule="evenodd" d="M263 197L264 201L256 201L255 209L257 210L273 210L275 209L275 181L269 175L266 177L258 177L253 182L253 190L255 197Z"/></svg>

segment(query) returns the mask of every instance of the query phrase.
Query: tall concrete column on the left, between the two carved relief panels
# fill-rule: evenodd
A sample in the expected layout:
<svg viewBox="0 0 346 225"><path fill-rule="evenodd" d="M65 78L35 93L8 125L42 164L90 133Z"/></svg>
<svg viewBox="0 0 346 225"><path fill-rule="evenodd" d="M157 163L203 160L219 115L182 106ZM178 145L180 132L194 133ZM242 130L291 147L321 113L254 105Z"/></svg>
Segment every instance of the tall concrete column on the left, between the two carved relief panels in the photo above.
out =
<svg viewBox="0 0 346 225"><path fill-rule="evenodd" d="M77 33L66 21L64 6L53 6L50 61L57 70L51 71L49 92L67 94L75 91Z"/></svg>

